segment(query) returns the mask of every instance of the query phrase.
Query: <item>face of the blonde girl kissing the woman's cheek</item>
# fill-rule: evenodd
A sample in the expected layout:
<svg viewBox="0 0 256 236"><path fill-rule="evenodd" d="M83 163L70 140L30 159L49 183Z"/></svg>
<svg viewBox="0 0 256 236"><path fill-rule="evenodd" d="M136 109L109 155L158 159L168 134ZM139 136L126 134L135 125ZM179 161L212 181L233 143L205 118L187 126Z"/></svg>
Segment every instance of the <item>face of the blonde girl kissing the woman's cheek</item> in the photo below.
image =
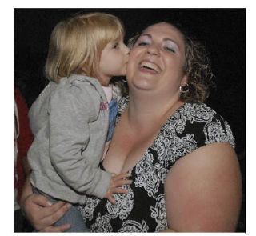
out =
<svg viewBox="0 0 256 236"><path fill-rule="evenodd" d="M113 76L126 75L129 51L123 43L123 37L105 46L96 71L102 86L108 86Z"/></svg>

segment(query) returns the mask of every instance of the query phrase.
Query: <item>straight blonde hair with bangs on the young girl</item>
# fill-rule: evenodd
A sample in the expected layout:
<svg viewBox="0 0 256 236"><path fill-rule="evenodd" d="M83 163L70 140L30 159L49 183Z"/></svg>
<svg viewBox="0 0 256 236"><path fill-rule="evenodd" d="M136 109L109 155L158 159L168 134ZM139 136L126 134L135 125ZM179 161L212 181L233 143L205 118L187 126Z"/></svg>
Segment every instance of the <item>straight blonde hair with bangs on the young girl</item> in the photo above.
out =
<svg viewBox="0 0 256 236"><path fill-rule="evenodd" d="M111 14L75 14L54 27L46 59L46 77L59 82L82 72L96 77L104 47L124 34L122 22Z"/></svg>

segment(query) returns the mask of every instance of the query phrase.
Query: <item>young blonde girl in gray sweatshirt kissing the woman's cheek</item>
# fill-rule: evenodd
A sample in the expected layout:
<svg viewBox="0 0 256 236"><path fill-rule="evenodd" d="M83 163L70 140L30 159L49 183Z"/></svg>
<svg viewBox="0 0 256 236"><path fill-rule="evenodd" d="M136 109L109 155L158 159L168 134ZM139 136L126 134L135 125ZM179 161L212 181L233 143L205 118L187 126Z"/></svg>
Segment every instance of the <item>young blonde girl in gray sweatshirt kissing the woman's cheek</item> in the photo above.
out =
<svg viewBox="0 0 256 236"><path fill-rule="evenodd" d="M78 14L59 22L50 37L46 74L50 83L30 109L35 136L28 158L35 193L52 202L84 204L86 194L108 198L127 190L129 174L98 168L111 138L119 90L112 76L126 74L129 50L124 29L110 14ZM72 206L55 225L71 223L70 232L86 231ZM89 231L89 230L87 230Z"/></svg>

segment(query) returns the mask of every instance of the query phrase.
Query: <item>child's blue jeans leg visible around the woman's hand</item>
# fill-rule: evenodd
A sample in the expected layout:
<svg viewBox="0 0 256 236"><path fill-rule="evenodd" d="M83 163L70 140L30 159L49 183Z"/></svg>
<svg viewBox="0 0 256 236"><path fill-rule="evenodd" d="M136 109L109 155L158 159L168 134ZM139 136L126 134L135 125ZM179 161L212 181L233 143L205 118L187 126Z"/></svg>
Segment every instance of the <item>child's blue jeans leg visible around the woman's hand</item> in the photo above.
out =
<svg viewBox="0 0 256 236"><path fill-rule="evenodd" d="M58 202L57 199L50 197L34 186L32 187L32 190L34 194L41 194L48 198L50 202ZM80 214L77 206L71 206L70 210L68 210L66 214L64 214L63 217L58 220L58 222L54 223L54 226L62 226L66 223L71 225L70 230L66 230L66 232L90 232L90 230L86 227L85 222L83 222L82 215Z"/></svg>

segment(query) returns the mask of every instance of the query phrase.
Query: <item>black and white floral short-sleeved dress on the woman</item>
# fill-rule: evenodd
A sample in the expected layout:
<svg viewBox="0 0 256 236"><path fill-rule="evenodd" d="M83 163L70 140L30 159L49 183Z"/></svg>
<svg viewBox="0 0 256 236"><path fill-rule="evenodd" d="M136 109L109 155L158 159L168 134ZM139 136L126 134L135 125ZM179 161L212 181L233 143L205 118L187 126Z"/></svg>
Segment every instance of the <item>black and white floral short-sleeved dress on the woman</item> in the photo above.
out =
<svg viewBox="0 0 256 236"><path fill-rule="evenodd" d="M119 102L118 119L128 102ZM164 183L174 163L200 146L230 142L228 123L206 104L185 103L162 126L154 143L129 172L129 194L115 194L116 205L106 199L87 198L78 206L92 232L157 232L167 228Z"/></svg>

